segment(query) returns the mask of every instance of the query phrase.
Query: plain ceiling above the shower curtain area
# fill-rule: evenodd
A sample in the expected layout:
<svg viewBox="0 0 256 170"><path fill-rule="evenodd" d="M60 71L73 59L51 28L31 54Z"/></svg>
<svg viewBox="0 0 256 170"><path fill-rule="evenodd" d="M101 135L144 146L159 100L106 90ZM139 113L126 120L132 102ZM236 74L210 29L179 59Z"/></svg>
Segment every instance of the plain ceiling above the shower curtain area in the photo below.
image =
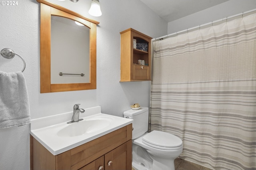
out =
<svg viewBox="0 0 256 170"><path fill-rule="evenodd" d="M216 6L228 0L140 0L167 22Z"/></svg>

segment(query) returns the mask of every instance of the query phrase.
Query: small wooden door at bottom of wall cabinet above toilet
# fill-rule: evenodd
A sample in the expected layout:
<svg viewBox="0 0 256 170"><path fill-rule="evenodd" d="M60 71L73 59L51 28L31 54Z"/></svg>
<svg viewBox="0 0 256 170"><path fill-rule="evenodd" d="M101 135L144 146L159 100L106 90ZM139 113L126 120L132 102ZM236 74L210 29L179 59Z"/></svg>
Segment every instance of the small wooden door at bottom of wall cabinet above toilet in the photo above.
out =
<svg viewBox="0 0 256 170"><path fill-rule="evenodd" d="M149 67L133 65L133 80L149 80Z"/></svg>

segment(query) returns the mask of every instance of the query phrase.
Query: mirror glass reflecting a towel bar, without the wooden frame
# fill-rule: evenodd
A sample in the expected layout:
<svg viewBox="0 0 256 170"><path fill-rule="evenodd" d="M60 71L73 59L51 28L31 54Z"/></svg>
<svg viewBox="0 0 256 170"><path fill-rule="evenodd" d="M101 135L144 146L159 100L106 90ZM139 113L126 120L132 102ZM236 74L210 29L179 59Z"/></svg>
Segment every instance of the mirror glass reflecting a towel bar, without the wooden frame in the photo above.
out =
<svg viewBox="0 0 256 170"><path fill-rule="evenodd" d="M69 18L52 15L51 84L89 83L89 47L88 27Z"/></svg>

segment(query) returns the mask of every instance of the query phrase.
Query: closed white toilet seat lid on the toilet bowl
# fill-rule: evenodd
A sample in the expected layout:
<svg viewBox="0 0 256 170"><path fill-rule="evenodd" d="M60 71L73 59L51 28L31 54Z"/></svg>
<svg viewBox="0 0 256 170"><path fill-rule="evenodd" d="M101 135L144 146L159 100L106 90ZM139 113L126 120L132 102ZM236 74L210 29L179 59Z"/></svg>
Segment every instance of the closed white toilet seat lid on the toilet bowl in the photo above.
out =
<svg viewBox="0 0 256 170"><path fill-rule="evenodd" d="M163 150L177 150L183 147L180 138L162 131L152 131L147 133L142 138L142 143Z"/></svg>

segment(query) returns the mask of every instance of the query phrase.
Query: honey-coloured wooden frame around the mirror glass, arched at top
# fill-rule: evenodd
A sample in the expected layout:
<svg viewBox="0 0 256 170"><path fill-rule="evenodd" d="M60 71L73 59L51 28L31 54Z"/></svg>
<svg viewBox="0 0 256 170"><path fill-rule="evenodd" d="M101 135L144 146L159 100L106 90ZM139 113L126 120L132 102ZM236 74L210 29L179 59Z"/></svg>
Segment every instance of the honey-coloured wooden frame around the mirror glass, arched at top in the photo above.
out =
<svg viewBox="0 0 256 170"><path fill-rule="evenodd" d="M98 21L47 2L37 0L41 6L40 23L40 93L96 89L96 27ZM51 15L62 16L83 23L90 28L90 82L51 84Z"/></svg>

